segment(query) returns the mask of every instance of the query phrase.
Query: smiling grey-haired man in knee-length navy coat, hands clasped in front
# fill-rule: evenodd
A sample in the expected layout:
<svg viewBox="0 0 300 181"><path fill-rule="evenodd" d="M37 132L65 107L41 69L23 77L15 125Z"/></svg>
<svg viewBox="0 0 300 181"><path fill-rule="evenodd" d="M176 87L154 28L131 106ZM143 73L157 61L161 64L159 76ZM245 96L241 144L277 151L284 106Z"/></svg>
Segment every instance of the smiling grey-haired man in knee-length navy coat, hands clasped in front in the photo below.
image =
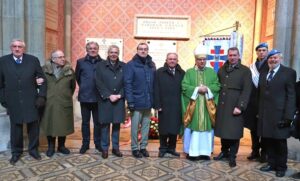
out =
<svg viewBox="0 0 300 181"><path fill-rule="evenodd" d="M108 157L110 145L110 124L112 124L112 153L122 157L119 150L120 123L125 120L125 98L123 68L119 60L119 47L111 45L108 57L96 67L95 80L99 99L99 120L101 123L102 158Z"/></svg>

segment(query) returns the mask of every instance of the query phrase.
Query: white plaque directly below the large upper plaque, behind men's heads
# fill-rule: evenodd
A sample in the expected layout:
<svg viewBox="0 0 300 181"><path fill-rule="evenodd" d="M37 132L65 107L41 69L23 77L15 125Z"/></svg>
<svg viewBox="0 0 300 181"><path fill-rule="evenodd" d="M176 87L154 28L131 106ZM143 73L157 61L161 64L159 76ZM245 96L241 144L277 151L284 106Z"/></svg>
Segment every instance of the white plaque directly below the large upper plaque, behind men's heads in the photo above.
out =
<svg viewBox="0 0 300 181"><path fill-rule="evenodd" d="M177 42L170 40L147 40L149 55L155 63L156 68L163 67L167 54L177 52Z"/></svg>

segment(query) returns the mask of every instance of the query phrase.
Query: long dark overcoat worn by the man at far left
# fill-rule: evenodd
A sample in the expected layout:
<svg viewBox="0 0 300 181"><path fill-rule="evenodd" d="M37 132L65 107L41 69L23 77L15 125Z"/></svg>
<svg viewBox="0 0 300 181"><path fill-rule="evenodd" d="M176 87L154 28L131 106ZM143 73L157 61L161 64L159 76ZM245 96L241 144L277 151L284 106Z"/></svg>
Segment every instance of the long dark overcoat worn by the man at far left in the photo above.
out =
<svg viewBox="0 0 300 181"><path fill-rule="evenodd" d="M36 84L37 77L45 80L41 86ZM13 123L38 120L36 99L46 97L46 91L46 78L37 57L23 54L21 64L15 63L12 54L0 58L0 102L7 104Z"/></svg>

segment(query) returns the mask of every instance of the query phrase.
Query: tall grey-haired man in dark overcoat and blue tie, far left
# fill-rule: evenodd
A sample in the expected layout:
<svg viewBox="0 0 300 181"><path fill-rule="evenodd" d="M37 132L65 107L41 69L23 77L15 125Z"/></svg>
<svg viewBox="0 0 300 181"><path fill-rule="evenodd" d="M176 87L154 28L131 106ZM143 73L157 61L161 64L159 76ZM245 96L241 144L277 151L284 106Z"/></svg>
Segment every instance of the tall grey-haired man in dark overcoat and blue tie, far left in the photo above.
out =
<svg viewBox="0 0 300 181"><path fill-rule="evenodd" d="M27 124L29 154L40 160L39 110L45 105L46 78L37 57L25 54L25 43L14 39L12 54L0 58L0 103L10 116L10 141L14 165L23 153L23 124ZM37 85L36 79L43 79Z"/></svg>

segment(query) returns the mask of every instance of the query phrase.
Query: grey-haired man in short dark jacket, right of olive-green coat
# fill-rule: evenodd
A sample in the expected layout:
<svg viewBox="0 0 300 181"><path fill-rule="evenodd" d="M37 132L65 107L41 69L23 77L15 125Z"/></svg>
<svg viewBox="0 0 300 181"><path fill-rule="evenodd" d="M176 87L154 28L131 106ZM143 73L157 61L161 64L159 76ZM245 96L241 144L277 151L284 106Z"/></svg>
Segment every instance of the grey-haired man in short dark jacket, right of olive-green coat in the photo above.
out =
<svg viewBox="0 0 300 181"><path fill-rule="evenodd" d="M77 60L75 68L76 80L79 86L78 101L81 107L81 133L82 146L79 153L84 154L90 148L90 120L93 115L94 122L94 144L101 152L101 127L98 121L98 100L100 96L96 88L94 74L97 64L102 59L98 55L99 45L91 41L86 44L87 55Z"/></svg>

